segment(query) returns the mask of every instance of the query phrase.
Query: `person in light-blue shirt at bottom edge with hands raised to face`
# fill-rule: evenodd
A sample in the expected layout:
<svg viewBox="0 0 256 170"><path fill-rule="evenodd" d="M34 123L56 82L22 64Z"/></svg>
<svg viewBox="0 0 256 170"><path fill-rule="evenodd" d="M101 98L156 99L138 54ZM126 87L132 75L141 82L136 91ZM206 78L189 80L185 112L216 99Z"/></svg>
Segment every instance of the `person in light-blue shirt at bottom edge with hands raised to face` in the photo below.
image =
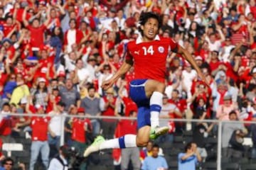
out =
<svg viewBox="0 0 256 170"><path fill-rule="evenodd" d="M185 147L185 153L178 154L178 170L194 170L196 164L201 161L196 144L189 142Z"/></svg>

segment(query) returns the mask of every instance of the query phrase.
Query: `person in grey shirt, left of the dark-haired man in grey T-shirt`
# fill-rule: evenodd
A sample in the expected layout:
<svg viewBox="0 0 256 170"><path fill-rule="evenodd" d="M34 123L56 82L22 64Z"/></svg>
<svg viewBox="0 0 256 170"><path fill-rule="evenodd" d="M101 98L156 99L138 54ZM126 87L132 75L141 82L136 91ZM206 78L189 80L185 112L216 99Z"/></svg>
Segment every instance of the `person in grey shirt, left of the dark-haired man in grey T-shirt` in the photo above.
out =
<svg viewBox="0 0 256 170"><path fill-rule="evenodd" d="M80 107L80 95L74 88L71 79L67 79L65 81L65 87L60 88L60 97L61 101L65 103L65 111L68 111L72 105Z"/></svg>

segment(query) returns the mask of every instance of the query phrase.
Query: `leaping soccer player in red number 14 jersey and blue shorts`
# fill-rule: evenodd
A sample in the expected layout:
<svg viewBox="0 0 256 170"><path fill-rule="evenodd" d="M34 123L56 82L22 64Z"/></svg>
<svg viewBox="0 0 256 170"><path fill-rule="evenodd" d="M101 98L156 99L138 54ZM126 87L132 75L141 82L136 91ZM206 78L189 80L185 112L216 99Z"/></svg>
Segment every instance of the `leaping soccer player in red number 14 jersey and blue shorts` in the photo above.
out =
<svg viewBox="0 0 256 170"><path fill-rule="evenodd" d="M129 95L138 106L137 135L124 135L113 140L105 140L104 137L98 136L95 142L87 147L84 157L102 149L144 147L150 139L154 140L168 132L168 127L159 127L159 112L165 90L166 57L169 50L183 55L196 69L198 76L205 81L201 69L187 50L171 38L159 37L159 15L152 12L142 13L139 23L141 35L137 40L128 42L124 64L111 79L102 82L102 88L109 89L134 65L135 79L130 83Z"/></svg>

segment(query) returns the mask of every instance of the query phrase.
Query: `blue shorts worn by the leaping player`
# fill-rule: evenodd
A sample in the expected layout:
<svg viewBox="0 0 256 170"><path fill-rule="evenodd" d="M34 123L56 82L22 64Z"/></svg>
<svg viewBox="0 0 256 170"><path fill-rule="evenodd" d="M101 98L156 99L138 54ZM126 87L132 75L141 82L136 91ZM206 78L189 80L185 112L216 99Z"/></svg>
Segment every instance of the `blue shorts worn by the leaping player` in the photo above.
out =
<svg viewBox="0 0 256 170"><path fill-rule="evenodd" d="M145 83L147 79L136 79L129 84L129 96L138 106L137 128L150 126L150 98L146 97Z"/></svg>

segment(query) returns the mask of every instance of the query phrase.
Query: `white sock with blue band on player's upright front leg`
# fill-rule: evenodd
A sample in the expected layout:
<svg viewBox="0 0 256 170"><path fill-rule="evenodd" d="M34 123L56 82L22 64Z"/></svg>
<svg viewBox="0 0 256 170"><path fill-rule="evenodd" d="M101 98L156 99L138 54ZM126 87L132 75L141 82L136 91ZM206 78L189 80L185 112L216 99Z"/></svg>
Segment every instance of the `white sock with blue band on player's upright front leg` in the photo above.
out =
<svg viewBox="0 0 256 170"><path fill-rule="evenodd" d="M158 91L154 91L150 98L150 122L151 128L159 126L159 113L163 106L163 94Z"/></svg>

